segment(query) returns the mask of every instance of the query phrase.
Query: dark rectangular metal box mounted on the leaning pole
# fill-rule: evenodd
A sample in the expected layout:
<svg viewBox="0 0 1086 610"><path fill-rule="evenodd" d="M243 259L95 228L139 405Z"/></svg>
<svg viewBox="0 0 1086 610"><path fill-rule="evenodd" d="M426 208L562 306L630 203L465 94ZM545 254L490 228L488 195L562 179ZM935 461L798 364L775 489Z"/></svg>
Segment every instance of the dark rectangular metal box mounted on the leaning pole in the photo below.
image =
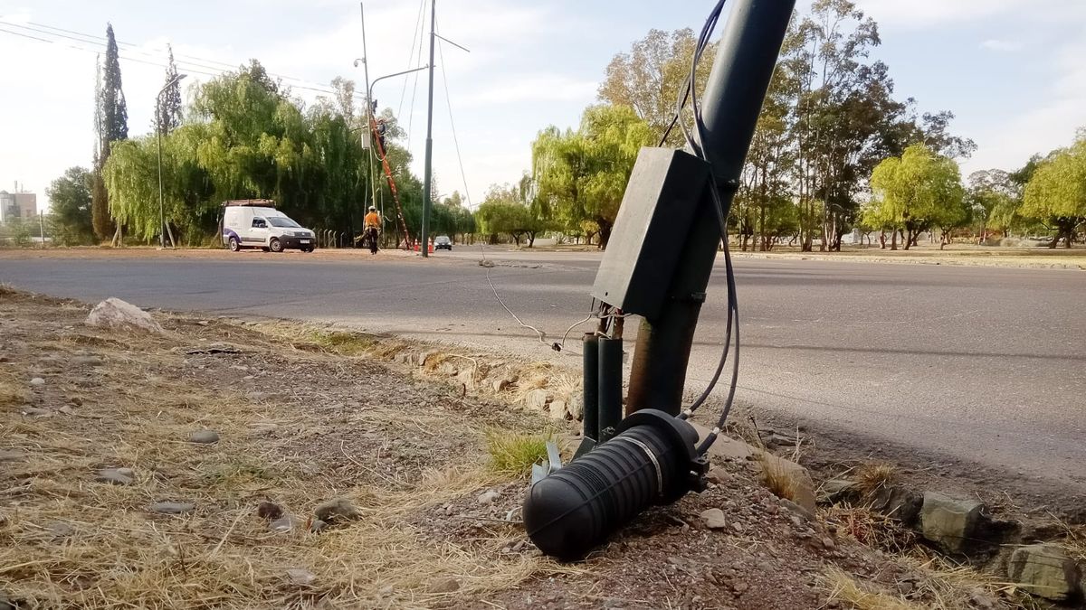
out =
<svg viewBox="0 0 1086 610"><path fill-rule="evenodd" d="M624 314L659 314L709 171L708 163L685 151L641 149L592 296Z"/></svg>

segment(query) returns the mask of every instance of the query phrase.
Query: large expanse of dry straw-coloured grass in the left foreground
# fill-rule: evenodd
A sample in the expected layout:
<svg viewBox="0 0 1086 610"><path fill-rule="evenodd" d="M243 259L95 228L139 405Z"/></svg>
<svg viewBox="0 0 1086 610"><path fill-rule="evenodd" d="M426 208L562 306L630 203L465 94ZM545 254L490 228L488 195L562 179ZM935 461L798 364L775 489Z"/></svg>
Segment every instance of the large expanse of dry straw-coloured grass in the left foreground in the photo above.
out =
<svg viewBox="0 0 1086 610"><path fill-rule="evenodd" d="M467 417L404 417L376 406L345 411L319 402L301 408L290 395L250 398L235 390L245 372L236 370L233 356L205 357L211 364L198 371L182 364L184 351L169 352L176 339L85 328L56 339L83 313L47 310L28 301L3 301L0 309L25 320L23 328L30 330L23 340L37 339L12 367L37 366L41 352L65 357L85 348L106 363L79 377L68 368L46 374L42 406L81 396L73 415L31 419L0 409L0 437L21 456L0 469L0 506L7 508L0 590L28 607L429 608L508 589L531 576L576 571L541 557L503 554L522 536L512 529L463 544L418 529L430 507L496 481L484 461L420 454L411 459L431 469L387 474L365 447L329 447L327 441L344 427L377 430L378 456L394 450L397 434L472 443L479 434ZM186 341L206 333L209 341L230 341L248 354L293 358L291 366L342 369L348 379L362 366L354 358L283 350L285 342L251 329L215 322L184 330ZM337 352L365 348L353 335L324 339ZM3 381L4 396L21 396ZM186 442L204 428L219 432L222 441ZM479 445L466 455L481 455ZM136 481L94 482L99 469L111 467L132 468ZM352 500L362 519L317 535L301 525L273 533L255 516L256 505L272 499L304 522L317 504L336 497ZM197 509L182 516L147 510L161 500L190 501ZM311 573L312 583L292 581L288 570L294 569ZM431 593L443 579L455 579L458 590Z"/></svg>

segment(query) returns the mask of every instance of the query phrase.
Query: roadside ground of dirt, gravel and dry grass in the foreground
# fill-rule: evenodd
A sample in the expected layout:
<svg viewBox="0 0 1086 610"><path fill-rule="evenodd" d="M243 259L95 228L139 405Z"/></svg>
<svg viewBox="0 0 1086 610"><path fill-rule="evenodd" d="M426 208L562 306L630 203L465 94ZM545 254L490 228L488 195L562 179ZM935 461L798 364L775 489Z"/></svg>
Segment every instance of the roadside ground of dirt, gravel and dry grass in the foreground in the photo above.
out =
<svg viewBox="0 0 1086 610"><path fill-rule="evenodd" d="M743 461L557 563L485 435L572 422L392 364L401 345L379 338L163 313L162 333L102 329L88 312L0 287L0 609L1020 602L795 511Z"/></svg>

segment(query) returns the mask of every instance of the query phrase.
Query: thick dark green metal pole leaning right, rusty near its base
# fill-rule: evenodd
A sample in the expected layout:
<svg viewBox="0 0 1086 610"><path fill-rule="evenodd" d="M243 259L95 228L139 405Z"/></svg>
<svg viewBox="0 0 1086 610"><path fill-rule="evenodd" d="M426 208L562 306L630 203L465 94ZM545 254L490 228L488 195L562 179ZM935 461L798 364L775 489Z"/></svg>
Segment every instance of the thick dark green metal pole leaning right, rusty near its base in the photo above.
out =
<svg viewBox="0 0 1086 610"><path fill-rule="evenodd" d="M731 14L700 100L703 148L712 163L725 209L740 183L795 0L733 0L730 4ZM655 319L642 320L630 372L628 412L653 408L679 415L694 328L720 244L712 206L706 192L682 246L667 303Z"/></svg>

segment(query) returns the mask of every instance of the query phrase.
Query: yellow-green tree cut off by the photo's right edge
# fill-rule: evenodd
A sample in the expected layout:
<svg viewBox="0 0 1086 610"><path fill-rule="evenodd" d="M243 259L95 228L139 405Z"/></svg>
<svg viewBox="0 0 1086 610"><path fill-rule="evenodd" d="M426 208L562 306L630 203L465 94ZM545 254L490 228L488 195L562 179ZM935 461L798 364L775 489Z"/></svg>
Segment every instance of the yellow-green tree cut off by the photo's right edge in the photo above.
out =
<svg viewBox="0 0 1086 610"><path fill-rule="evenodd" d="M1056 229L1048 247L1063 240L1071 247L1075 230L1086 223L1086 138L1043 162L1025 187L1022 215Z"/></svg>

